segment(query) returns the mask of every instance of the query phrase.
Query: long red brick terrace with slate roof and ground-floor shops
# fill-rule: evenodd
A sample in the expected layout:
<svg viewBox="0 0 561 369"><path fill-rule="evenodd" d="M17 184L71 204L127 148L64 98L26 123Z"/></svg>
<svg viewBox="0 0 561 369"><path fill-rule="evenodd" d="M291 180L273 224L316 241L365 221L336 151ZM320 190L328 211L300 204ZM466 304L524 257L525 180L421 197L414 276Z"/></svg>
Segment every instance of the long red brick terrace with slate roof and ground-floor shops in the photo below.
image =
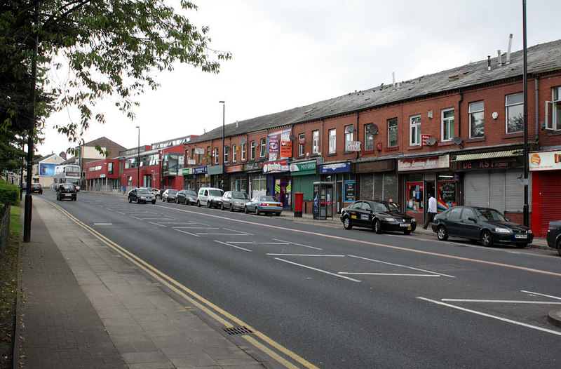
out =
<svg viewBox="0 0 561 369"><path fill-rule="evenodd" d="M527 55L529 151L560 150L561 41L532 46ZM518 51L510 60L501 55L228 124L224 161L222 127L185 145L186 160L196 164L184 169L184 183L271 194L287 208L295 192L304 192L311 209L313 182L326 182L332 184L332 213L356 199L393 199L419 222L433 193L439 211L489 206L522 222L522 90ZM538 172L531 170L526 182L530 212L543 208L536 178L543 186L559 180L558 172ZM532 213L534 232L561 218L561 203L550 208Z"/></svg>

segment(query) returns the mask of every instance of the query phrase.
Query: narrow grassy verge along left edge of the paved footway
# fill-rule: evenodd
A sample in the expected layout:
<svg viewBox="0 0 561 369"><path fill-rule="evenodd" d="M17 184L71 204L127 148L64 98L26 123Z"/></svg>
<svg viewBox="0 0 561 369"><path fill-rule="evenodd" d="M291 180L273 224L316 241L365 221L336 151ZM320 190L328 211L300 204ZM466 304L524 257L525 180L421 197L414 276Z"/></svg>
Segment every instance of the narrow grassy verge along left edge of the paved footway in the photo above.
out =
<svg viewBox="0 0 561 369"><path fill-rule="evenodd" d="M12 368L15 304L18 298L18 250L22 232L19 206L10 209L10 236L0 259L0 368Z"/></svg>

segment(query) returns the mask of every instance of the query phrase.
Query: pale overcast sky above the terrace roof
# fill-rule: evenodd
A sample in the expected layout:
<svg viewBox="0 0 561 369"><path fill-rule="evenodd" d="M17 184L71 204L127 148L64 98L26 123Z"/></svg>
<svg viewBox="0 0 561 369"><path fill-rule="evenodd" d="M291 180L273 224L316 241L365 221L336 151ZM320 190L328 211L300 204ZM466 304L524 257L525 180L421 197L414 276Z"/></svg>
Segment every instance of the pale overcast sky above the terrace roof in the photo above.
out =
<svg viewBox="0 0 561 369"><path fill-rule="evenodd" d="M177 1L177 0L173 0ZM168 3L172 3L168 0ZM108 137L127 148L201 135L226 123L309 105L381 83L405 81L522 50L522 0L194 0L188 14L210 26L211 48L229 51L219 74L175 65L158 75L130 121L106 101L107 123L86 142ZM527 46L561 39L561 1L527 0ZM73 147L48 119L41 155Z"/></svg>

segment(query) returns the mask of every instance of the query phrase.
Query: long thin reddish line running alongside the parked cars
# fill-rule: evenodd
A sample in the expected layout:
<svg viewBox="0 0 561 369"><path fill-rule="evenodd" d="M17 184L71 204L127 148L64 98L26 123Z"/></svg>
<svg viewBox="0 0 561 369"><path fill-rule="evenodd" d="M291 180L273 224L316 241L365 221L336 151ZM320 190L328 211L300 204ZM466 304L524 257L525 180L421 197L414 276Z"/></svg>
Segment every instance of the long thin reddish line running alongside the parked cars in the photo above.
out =
<svg viewBox="0 0 561 369"><path fill-rule="evenodd" d="M156 205L159 206L159 205ZM361 240L353 240L353 239L348 239L345 237L340 237L340 236L332 236L329 234L323 234L323 233L318 233L318 232L309 232L309 231L303 231L300 229L292 229L292 228L286 228L286 227L279 227L276 225L272 225L272 224L262 224L262 223L257 223L257 222L250 222L248 220L240 220L240 219L232 219L229 217L222 217L220 215L212 215L212 214L205 214L205 213L198 213L196 211L191 211L191 210L186 210L186 209L181 209L181 208L167 208L165 206L162 206L163 208L166 209L171 209L171 210L176 210L176 211L182 211L185 213L192 213L195 215L203 215L205 217L215 217L218 219L223 219L223 220L229 220L231 222L238 222L238 223L245 223L245 224L252 224L252 225L258 225L261 227L266 227L266 228L272 228L272 229L280 229L283 231L290 231L290 232L295 232L295 233L303 233L303 234L311 234L314 236L322 236L322 237L326 237L328 239L336 239L336 240L340 240L340 241L345 241L345 242L353 242L353 243L361 243L363 245L370 245L370 246L378 246L381 248L390 248L392 250L400 250L400 251L406 251L408 253L417 253L417 254L421 254L421 255L430 255L430 256L437 256L437 257L444 257L447 259L452 259L452 260L461 260L464 262L475 262L478 264L486 264L486 265L492 265L494 267L503 267L503 268L508 268L508 269L517 269L517 270L522 270L522 271L528 271L530 273L538 273L538 274L546 274L548 276L558 276L561 277L561 273L559 272L555 272L555 271L547 271L547 270L541 270L541 269L534 269L534 268L527 268L527 267L520 267L519 265L511 265L511 264L504 264L501 262L489 262L487 260L479 260L479 259L472 259L471 257L462 257L462 256L454 256L454 255L445 255L445 254L441 254L441 253L433 253L431 251L424 251L424 250L416 250L413 248L404 248L401 246L391 246L391 245L386 245L384 243L376 243L376 242L370 242L370 241L361 241ZM431 273L434 273L433 271ZM447 276L446 274L440 274L441 276ZM450 276L453 278L453 276Z"/></svg>

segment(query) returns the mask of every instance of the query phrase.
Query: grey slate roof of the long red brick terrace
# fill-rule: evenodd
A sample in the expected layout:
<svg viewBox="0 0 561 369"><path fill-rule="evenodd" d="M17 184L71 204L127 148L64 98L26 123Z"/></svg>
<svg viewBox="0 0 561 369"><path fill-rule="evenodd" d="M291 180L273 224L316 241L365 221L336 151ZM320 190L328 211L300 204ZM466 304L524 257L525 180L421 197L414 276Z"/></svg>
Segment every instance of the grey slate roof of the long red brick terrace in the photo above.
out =
<svg viewBox="0 0 561 369"><path fill-rule="evenodd" d="M504 54L502 55L502 62L506 62L506 55ZM403 81L399 85L396 83L396 88L382 83L381 86L375 88L315 102L304 107L296 107L284 112L258 116L237 123L229 123L225 126L224 135L225 137L245 135L245 133L257 130L277 128L306 121L317 121L330 116L357 112L439 93L447 93L460 88L508 80L513 77L520 78L523 73L522 69L522 51L515 51L511 53L511 62L508 65L503 64L499 67L499 58L491 58L490 71L487 69L487 60L480 60L462 65L461 67ZM528 74L541 74L559 71L560 69L561 40L541 43L527 48ZM222 126L194 138L191 142L203 142L217 138L222 138Z"/></svg>

